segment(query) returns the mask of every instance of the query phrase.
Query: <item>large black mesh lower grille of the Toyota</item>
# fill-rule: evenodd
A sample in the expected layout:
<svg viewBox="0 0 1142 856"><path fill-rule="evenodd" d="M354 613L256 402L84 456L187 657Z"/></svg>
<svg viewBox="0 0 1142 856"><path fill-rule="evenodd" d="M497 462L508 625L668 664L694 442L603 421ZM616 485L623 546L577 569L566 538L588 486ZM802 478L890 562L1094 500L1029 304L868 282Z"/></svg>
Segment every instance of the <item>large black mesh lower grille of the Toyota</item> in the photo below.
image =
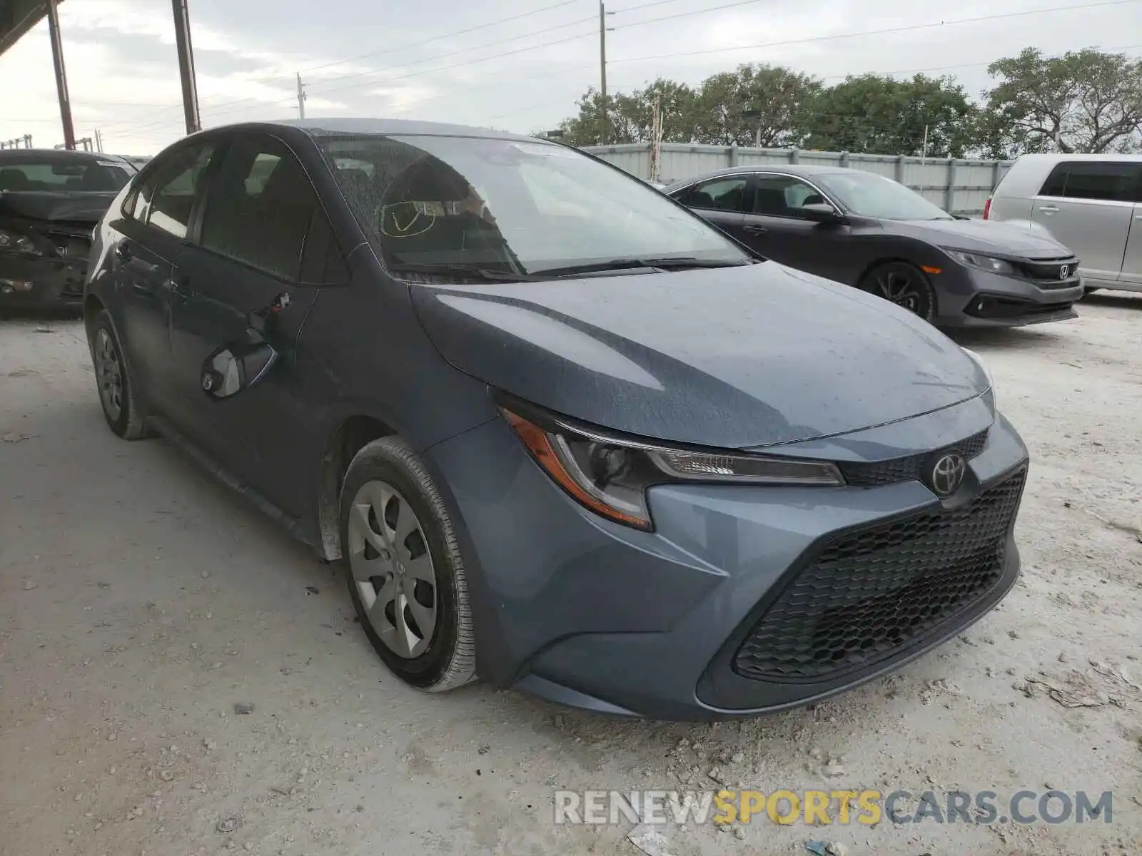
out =
<svg viewBox="0 0 1142 856"><path fill-rule="evenodd" d="M976 604L1003 574L1026 475L966 506L827 543L754 624L733 670L755 680L822 680L892 657Z"/></svg>

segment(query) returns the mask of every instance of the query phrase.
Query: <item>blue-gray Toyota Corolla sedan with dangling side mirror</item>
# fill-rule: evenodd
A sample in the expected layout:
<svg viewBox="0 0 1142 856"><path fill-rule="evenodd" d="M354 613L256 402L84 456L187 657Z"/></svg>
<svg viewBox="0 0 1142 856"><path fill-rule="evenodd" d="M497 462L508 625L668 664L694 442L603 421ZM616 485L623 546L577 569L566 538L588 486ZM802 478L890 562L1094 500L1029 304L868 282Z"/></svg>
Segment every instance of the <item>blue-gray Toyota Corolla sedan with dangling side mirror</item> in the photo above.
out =
<svg viewBox="0 0 1142 856"><path fill-rule="evenodd" d="M779 710L1019 572L1027 450L976 357L550 142L193 135L97 227L85 317L111 429L340 559L421 689Z"/></svg>

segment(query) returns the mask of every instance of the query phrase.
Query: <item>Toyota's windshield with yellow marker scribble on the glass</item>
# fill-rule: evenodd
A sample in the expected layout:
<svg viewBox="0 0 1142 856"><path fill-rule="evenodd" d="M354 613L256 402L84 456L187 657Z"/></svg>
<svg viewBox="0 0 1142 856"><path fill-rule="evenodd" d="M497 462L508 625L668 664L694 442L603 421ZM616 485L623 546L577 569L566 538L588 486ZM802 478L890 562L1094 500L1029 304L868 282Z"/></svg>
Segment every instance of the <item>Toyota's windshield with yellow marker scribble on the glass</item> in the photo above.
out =
<svg viewBox="0 0 1142 856"><path fill-rule="evenodd" d="M432 136L319 138L392 269L516 275L614 260L746 264L659 191L552 143Z"/></svg>

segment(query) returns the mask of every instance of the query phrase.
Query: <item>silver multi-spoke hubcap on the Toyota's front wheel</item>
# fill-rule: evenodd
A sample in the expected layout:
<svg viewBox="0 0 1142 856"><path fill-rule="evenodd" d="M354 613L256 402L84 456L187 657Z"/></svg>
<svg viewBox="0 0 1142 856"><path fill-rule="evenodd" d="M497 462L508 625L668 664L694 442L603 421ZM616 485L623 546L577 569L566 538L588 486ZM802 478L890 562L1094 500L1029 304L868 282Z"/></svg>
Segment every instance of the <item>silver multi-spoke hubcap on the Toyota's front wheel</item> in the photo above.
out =
<svg viewBox="0 0 1142 856"><path fill-rule="evenodd" d="M436 572L412 507L387 482L367 482L353 498L348 540L373 631L397 656L419 656L436 630Z"/></svg>

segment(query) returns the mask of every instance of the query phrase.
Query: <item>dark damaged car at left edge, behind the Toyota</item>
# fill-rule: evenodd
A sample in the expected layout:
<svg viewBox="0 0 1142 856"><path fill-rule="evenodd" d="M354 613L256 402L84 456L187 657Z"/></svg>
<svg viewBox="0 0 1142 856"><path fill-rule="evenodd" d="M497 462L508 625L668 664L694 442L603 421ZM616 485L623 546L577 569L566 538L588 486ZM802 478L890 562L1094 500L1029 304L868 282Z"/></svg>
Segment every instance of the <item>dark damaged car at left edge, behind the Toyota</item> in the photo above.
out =
<svg viewBox="0 0 1142 856"><path fill-rule="evenodd" d="M114 155L0 151L0 309L80 304L91 229L135 172Z"/></svg>

